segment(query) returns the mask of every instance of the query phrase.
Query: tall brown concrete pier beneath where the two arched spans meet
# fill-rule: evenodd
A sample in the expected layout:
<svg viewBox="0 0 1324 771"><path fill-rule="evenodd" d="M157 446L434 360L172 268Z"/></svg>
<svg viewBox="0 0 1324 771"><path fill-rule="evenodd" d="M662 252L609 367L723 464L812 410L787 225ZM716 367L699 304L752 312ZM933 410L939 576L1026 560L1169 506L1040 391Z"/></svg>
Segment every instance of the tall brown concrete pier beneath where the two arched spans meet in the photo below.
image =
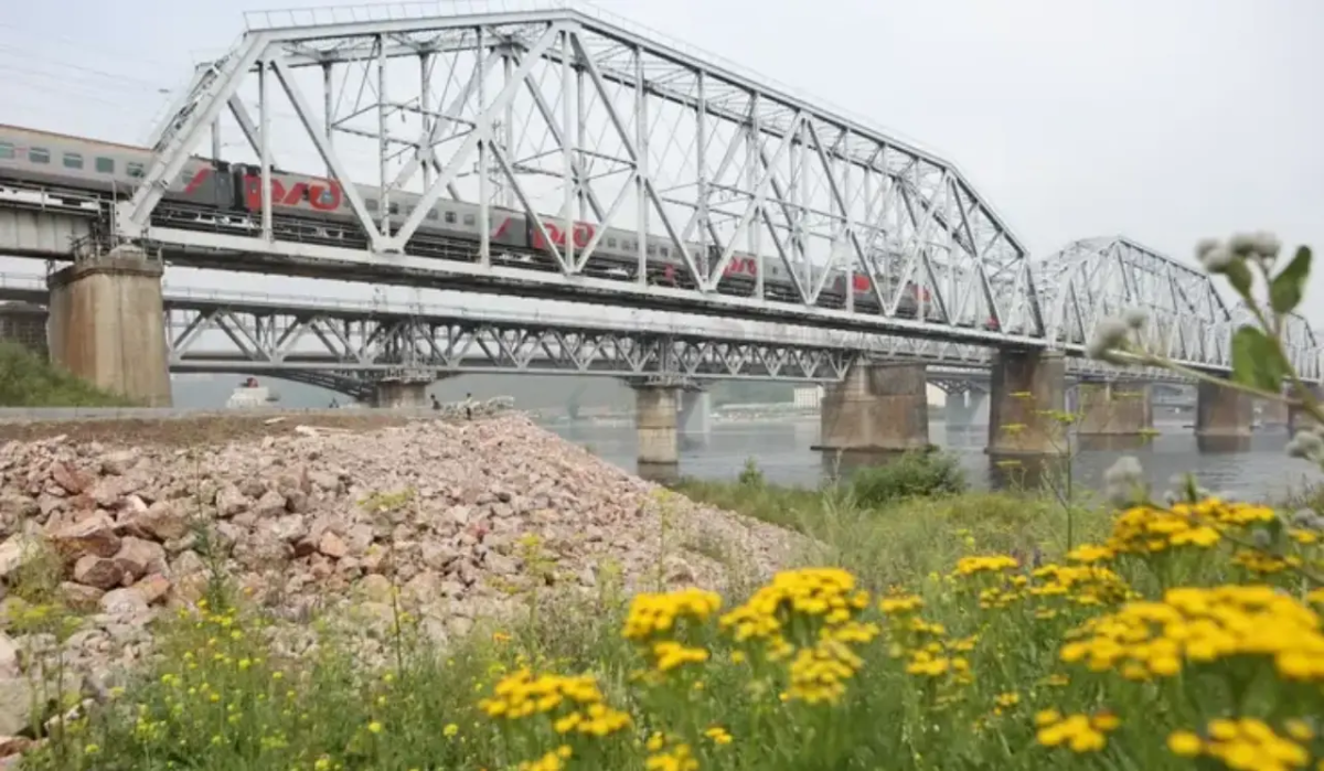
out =
<svg viewBox="0 0 1324 771"><path fill-rule="evenodd" d="M1057 351L1008 351L993 355L989 395L989 445L994 457L1047 456L1063 452L1059 412L1066 399L1066 360Z"/></svg>

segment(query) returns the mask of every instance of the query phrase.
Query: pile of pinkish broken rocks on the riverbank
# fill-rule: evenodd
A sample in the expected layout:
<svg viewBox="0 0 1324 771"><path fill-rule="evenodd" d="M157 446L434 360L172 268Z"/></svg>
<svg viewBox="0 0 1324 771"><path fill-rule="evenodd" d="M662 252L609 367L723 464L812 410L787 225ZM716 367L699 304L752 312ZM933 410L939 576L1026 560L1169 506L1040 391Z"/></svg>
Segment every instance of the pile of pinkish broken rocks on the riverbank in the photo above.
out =
<svg viewBox="0 0 1324 771"><path fill-rule="evenodd" d="M191 449L9 442L0 446L0 694L19 690L21 657L7 660L15 642L3 625L32 575L85 613L66 653L95 676L146 656L150 621L195 603L217 572L294 625L343 604L380 617L397 587L425 633L445 641L527 601L522 587L593 592L602 571L624 591L654 580L718 587L732 570L769 572L794 546L785 531L666 494L516 413L369 433L299 427ZM0 695L0 737L17 733L4 717L21 711L4 703L13 701Z"/></svg>

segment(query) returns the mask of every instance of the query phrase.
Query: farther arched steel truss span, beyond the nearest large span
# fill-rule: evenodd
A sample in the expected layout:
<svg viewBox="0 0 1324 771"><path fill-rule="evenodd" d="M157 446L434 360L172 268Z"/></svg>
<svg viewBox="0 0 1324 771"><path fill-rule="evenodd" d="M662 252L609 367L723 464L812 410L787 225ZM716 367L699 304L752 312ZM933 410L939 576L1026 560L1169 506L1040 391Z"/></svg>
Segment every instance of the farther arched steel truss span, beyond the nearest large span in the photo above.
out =
<svg viewBox="0 0 1324 771"><path fill-rule="evenodd" d="M1106 318L1128 309L1148 315L1141 343L1200 370L1231 368L1231 335L1251 315L1230 307L1205 273L1129 238L1072 241L1035 264L1046 287L1049 339L1061 347L1087 342ZM1303 379L1320 379L1320 348L1304 318L1292 317L1284 335L1287 355Z"/></svg>

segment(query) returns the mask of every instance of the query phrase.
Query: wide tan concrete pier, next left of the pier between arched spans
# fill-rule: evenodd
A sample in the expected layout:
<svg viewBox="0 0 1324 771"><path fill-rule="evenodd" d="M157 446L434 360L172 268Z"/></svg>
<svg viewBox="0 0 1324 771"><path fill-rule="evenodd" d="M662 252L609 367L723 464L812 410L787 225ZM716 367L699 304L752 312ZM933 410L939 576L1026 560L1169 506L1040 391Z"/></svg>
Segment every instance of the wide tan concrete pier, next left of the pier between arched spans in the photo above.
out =
<svg viewBox="0 0 1324 771"><path fill-rule="evenodd" d="M855 364L818 404L814 450L888 453L928 448L924 364Z"/></svg>

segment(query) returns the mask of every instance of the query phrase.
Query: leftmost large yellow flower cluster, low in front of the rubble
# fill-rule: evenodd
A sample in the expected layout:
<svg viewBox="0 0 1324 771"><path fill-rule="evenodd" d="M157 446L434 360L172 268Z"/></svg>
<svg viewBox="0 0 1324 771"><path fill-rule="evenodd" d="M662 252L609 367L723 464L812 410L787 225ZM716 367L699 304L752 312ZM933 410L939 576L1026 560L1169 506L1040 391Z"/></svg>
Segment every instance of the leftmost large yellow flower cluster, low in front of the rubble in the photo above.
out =
<svg viewBox="0 0 1324 771"><path fill-rule="evenodd" d="M519 669L502 678L493 698L479 701L478 707L487 717L512 721L545 714L557 734L606 737L630 725L630 715L608 706L597 681L588 674L535 677L530 669Z"/></svg>

